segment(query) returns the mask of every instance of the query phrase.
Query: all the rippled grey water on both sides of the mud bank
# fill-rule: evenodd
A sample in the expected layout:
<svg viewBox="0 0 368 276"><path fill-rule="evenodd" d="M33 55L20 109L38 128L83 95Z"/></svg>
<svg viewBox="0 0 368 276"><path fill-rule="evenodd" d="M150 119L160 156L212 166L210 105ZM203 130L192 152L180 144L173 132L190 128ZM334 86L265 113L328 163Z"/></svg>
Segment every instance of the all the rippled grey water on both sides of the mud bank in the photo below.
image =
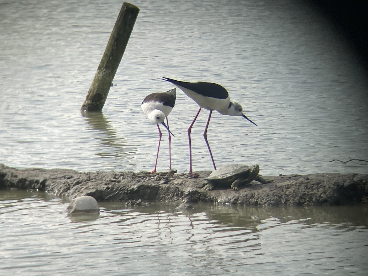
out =
<svg viewBox="0 0 368 276"><path fill-rule="evenodd" d="M225 86L247 116L213 113L217 166L264 175L367 173L367 78L348 43L304 1L135 1L141 8L103 114L85 99L122 1L0 0L0 162L14 167L152 170L158 133L141 110L160 76ZM178 91L172 163L189 166L198 106ZM192 129L193 169L212 164ZM163 134L158 170L168 168ZM98 219L35 191L0 191L0 274L365 275L367 210L103 203Z"/></svg>

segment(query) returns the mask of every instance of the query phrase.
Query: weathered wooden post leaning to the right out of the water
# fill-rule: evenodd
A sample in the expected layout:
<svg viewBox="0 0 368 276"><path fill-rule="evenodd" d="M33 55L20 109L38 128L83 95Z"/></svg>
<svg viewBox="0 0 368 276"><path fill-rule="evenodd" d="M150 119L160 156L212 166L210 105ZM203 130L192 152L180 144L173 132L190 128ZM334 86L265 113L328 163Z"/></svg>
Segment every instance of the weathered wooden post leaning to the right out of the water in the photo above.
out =
<svg viewBox="0 0 368 276"><path fill-rule="evenodd" d="M82 105L82 113L102 110L138 13L139 8L133 4L124 2L121 6L109 42L107 42L105 53L103 53L95 78L93 78Z"/></svg>

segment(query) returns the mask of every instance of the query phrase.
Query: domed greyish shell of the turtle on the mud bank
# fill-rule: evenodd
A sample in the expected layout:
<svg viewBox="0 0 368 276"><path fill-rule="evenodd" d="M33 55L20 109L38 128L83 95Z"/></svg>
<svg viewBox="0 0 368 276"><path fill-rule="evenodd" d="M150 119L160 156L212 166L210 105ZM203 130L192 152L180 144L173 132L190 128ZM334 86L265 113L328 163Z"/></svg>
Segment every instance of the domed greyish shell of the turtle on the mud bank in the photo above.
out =
<svg viewBox="0 0 368 276"><path fill-rule="evenodd" d="M230 185L239 176L247 177L251 166L232 164L223 166L218 170L213 171L208 177L205 178L211 184L224 184Z"/></svg>

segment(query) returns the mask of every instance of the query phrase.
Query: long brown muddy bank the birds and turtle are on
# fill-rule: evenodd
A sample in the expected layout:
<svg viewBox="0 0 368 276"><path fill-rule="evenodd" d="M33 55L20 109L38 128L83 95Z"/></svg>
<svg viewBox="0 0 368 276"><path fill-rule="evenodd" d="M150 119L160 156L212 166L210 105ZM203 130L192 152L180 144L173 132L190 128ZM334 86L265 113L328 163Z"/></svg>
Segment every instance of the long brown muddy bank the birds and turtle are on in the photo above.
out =
<svg viewBox="0 0 368 276"><path fill-rule="evenodd" d="M198 177L174 171L149 174L132 171L80 172L69 169L14 169L0 163L0 189L48 191L73 199L91 195L98 201L221 202L241 205L343 205L368 202L368 174L318 173L263 176L269 184L252 181L238 191L202 189L210 171ZM1 192L1 191L0 191Z"/></svg>

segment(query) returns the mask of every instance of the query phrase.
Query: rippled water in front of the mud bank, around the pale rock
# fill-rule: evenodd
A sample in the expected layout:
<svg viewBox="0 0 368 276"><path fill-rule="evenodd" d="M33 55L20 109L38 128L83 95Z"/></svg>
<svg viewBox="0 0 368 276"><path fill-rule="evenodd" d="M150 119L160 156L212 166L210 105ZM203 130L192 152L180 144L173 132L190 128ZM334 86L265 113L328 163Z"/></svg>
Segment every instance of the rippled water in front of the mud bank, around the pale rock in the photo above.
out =
<svg viewBox="0 0 368 276"><path fill-rule="evenodd" d="M367 208L68 203L1 191L0 275L366 275Z"/></svg>

